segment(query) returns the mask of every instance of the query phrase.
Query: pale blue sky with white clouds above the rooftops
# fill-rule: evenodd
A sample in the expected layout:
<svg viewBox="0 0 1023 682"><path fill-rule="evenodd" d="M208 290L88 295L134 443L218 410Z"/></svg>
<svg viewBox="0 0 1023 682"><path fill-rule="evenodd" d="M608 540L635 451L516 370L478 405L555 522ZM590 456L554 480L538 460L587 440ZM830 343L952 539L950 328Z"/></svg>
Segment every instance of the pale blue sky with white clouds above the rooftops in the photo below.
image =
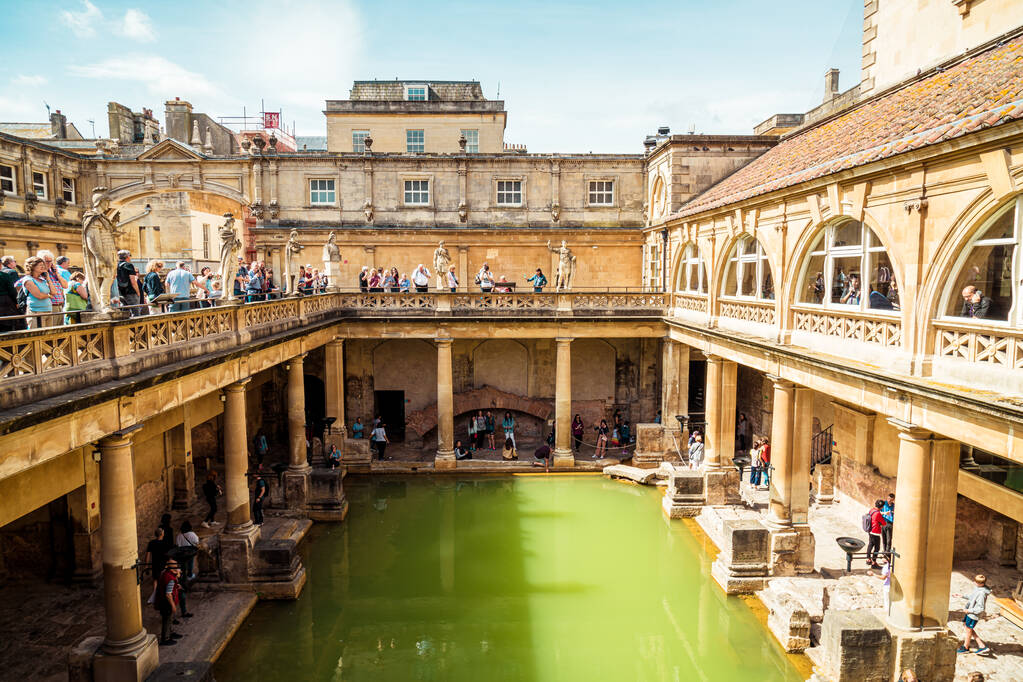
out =
<svg viewBox="0 0 1023 682"><path fill-rule="evenodd" d="M859 75L862 0L417 2L0 0L0 121L106 136L106 102L163 121L282 110L325 135L352 81L478 80L504 100L505 141L533 152L638 153L658 126L750 134ZM90 124L89 121L94 124Z"/></svg>

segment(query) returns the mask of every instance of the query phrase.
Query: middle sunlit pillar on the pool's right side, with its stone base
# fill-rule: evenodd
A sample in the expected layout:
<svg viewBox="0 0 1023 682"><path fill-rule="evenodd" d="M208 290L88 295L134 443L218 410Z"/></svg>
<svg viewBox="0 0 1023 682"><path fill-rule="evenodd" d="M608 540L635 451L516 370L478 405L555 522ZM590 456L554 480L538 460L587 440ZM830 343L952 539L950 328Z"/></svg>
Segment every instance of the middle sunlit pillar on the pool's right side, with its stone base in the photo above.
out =
<svg viewBox="0 0 1023 682"><path fill-rule="evenodd" d="M770 564L772 576L813 572L810 504L810 431L813 393L777 376L771 423Z"/></svg>

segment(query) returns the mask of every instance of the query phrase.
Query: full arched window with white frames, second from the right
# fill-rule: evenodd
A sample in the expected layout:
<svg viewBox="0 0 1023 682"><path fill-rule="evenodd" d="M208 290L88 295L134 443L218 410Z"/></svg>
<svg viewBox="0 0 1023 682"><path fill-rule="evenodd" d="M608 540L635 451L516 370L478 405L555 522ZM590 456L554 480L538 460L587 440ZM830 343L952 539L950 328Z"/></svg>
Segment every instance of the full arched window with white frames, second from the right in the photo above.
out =
<svg viewBox="0 0 1023 682"><path fill-rule="evenodd" d="M810 246L798 301L826 308L897 310L898 282L874 230L856 220L820 230Z"/></svg>

